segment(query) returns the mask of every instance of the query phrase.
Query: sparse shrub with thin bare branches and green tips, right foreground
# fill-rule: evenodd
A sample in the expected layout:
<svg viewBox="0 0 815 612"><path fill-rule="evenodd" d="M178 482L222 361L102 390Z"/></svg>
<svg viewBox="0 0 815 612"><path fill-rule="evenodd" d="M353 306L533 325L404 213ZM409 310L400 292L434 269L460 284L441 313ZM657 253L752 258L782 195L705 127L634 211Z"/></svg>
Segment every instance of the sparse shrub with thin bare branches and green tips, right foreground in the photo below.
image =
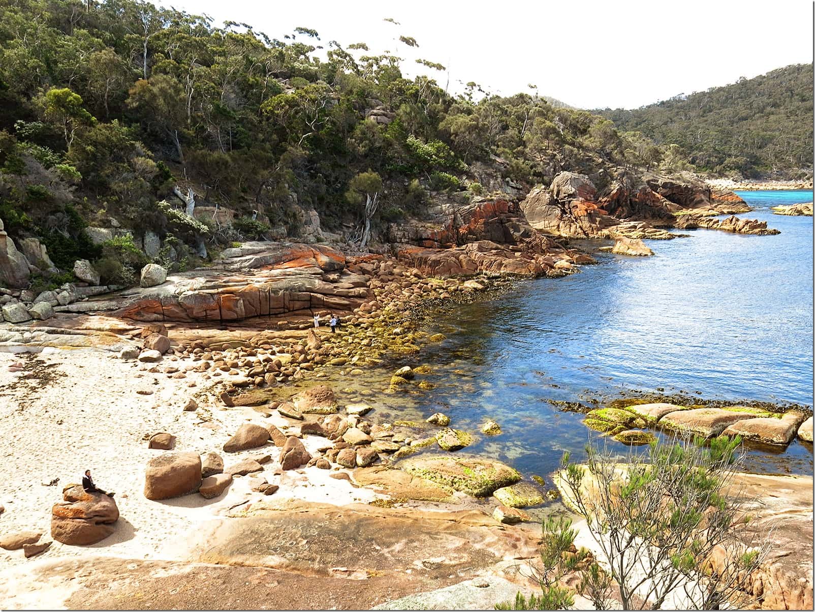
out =
<svg viewBox="0 0 815 612"><path fill-rule="evenodd" d="M751 577L769 537L756 545L737 525L744 520L743 498L732 495L740 443L659 442L645 455L632 451L625 463L591 446L586 465L569 463L566 453L563 499L586 520L624 610L751 602Z"/></svg>

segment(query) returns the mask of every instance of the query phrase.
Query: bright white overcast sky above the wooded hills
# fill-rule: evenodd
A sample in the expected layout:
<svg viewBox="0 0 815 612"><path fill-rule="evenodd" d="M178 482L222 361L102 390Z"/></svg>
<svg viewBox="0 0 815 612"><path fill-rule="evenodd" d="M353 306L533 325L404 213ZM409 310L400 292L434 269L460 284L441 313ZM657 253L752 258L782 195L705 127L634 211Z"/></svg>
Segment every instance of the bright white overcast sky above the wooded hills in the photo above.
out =
<svg viewBox="0 0 815 612"><path fill-rule="evenodd" d="M808 0L154 2L272 38L301 26L317 30L316 45L366 42L406 58L405 76L426 73L453 94L468 81L498 95L531 93L532 84L578 108L638 108L813 60ZM447 70L423 68L420 58Z"/></svg>

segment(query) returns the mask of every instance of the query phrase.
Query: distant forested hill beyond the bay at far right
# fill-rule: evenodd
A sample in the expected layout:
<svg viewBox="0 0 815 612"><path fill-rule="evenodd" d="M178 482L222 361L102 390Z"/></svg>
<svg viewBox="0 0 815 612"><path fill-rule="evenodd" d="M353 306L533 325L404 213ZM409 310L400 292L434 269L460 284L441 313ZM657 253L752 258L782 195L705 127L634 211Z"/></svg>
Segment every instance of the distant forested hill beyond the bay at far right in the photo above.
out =
<svg viewBox="0 0 815 612"><path fill-rule="evenodd" d="M636 110L600 111L619 130L677 144L719 176L802 178L813 160L813 66L796 64Z"/></svg>

